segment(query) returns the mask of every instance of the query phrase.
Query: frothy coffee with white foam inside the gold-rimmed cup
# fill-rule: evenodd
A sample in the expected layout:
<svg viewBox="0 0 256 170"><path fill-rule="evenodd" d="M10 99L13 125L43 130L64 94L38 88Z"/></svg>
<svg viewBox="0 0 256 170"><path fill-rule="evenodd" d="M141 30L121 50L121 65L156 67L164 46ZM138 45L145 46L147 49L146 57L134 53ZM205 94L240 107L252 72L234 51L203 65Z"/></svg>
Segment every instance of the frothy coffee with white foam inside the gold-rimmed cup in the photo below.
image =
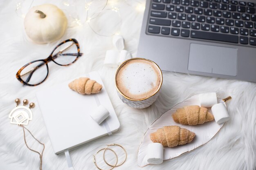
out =
<svg viewBox="0 0 256 170"><path fill-rule="evenodd" d="M132 100L146 99L158 91L162 73L158 66L146 59L132 59L121 65L116 74L119 91Z"/></svg>

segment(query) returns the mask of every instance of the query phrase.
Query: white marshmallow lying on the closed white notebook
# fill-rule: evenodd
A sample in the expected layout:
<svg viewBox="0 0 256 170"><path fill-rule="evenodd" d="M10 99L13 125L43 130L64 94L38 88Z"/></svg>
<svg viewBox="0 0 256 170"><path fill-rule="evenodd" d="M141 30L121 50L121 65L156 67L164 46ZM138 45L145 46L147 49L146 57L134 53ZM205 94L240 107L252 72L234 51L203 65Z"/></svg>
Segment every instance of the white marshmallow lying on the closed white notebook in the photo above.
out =
<svg viewBox="0 0 256 170"><path fill-rule="evenodd" d="M97 124L101 124L103 120L108 118L109 111L103 105L99 105L99 107L95 109L95 111L92 112L90 116L95 122L97 122Z"/></svg>

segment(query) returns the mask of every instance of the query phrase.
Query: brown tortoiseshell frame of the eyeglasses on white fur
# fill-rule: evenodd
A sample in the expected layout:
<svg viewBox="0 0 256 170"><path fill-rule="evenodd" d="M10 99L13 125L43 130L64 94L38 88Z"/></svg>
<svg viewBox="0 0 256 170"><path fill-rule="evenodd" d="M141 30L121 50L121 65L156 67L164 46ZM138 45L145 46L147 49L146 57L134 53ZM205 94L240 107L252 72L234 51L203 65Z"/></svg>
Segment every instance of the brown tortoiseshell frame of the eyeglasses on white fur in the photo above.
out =
<svg viewBox="0 0 256 170"><path fill-rule="evenodd" d="M24 65L22 68L20 68L20 70L19 70L19 71L17 72L17 74L16 74L16 78L18 79L18 81L20 81L23 85L28 85L28 86L36 86L36 85L40 85L41 83L43 83L43 82L45 81L45 79L47 78L48 73L49 73L49 68L48 68L48 64L47 64L47 63L48 63L49 61L53 61L54 63L56 63L56 64L58 64L58 65L61 65L61 64L57 63L56 61L54 61L54 59L55 59L54 57L57 57L57 56L56 56L56 54L55 54L54 56L52 56L53 52L56 50L56 48L58 48L58 47L61 46L62 44L66 43L66 42L69 42L69 41L73 41L74 44L75 44L76 47L77 47L77 53L72 53L72 54L71 54L71 53L68 53L68 55L74 55L74 56L76 56L76 59L72 62L72 63L74 63L79 57L81 57L81 56L83 55L83 53L80 53L79 44L78 44L78 41L77 41L76 39L67 39L67 40L63 41L62 43L58 44L58 46L56 46L56 47L54 48L54 50L52 50L52 53L51 53L51 54L49 55L49 57L47 57L46 59L40 59L40 60L31 61L31 62L27 63L26 65ZM72 45L73 45L73 44L72 44ZM69 47L70 47L70 46L68 46L67 48L69 48ZM67 48L65 48L65 49L67 49ZM65 49L64 49L64 50L65 50ZM62 51L60 51L60 52L58 52L58 53L62 53ZM57 53L57 54L58 54L58 53ZM63 54L63 55L67 55L67 54ZM29 72L30 72L30 75L28 76L27 81L23 81L22 78L21 78L21 76L20 76L20 72L21 72L25 67L27 67L29 64L34 63L34 62L37 62L37 61L43 61L43 63L37 65L35 68L33 68L33 70L30 70L30 71L29 71ZM67 65L70 65L70 64L72 64L72 63L66 64L66 65L61 65L61 66L67 66ZM40 83L35 84L35 85L29 84L28 82L29 82L29 80L30 80L32 74L34 73L34 71L35 71L37 68L39 68L40 66L44 65L44 64L45 64L46 67L47 67L47 75L45 76L45 78L43 79L43 81L41 81ZM29 72L27 72L27 73L29 73ZM27 73L25 73L25 74L27 74Z"/></svg>

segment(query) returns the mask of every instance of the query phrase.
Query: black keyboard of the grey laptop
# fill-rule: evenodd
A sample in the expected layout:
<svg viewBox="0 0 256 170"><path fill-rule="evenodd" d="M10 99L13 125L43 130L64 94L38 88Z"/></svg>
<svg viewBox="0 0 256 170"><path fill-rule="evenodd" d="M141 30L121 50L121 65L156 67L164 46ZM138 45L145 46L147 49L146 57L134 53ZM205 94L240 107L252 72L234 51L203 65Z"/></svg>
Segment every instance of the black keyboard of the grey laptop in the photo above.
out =
<svg viewBox="0 0 256 170"><path fill-rule="evenodd" d="M152 0L147 33L256 46L256 4L236 0Z"/></svg>

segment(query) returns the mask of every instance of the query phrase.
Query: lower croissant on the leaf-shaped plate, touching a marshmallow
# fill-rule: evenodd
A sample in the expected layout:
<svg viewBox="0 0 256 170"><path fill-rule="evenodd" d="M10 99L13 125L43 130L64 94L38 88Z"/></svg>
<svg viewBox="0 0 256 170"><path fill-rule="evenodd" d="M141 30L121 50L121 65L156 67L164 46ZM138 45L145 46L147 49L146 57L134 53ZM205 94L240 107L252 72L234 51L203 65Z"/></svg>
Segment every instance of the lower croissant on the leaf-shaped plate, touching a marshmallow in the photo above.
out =
<svg viewBox="0 0 256 170"><path fill-rule="evenodd" d="M180 126L164 126L150 134L150 139L154 143L160 143L163 146L174 147L191 142L195 133Z"/></svg>

